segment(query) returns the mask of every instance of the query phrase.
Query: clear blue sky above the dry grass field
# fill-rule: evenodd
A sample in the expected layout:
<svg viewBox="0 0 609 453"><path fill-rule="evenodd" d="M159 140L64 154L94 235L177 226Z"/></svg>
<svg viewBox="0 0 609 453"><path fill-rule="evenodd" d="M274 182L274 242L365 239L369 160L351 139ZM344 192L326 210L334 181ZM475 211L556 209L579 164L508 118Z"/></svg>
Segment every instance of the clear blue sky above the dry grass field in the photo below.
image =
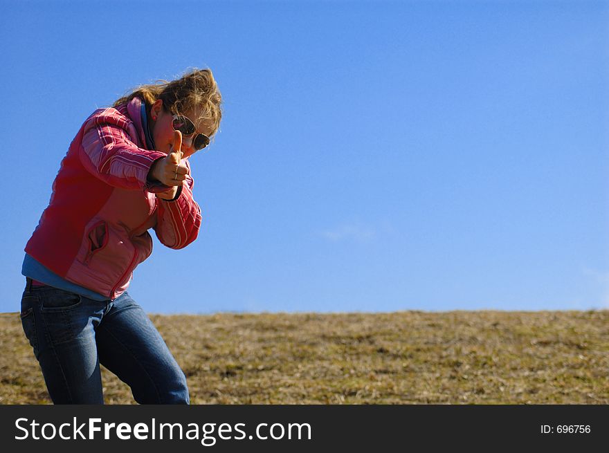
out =
<svg viewBox="0 0 609 453"><path fill-rule="evenodd" d="M609 307L609 2L0 2L0 311L85 118L198 66L199 239L152 313Z"/></svg>

